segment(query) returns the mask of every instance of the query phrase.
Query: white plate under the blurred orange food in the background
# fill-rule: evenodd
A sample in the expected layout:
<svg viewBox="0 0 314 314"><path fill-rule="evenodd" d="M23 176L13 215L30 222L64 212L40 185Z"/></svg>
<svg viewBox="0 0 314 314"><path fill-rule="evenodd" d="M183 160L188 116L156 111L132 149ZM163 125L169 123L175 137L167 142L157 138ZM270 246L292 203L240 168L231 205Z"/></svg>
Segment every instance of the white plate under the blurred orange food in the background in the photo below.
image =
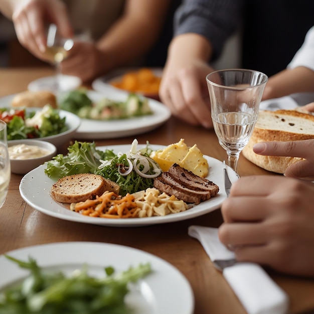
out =
<svg viewBox="0 0 314 314"><path fill-rule="evenodd" d="M112 86L110 82L120 80L125 73L131 72L131 71L138 71L139 69L141 68L122 68L122 69L113 70L110 73L95 79L92 82L92 88L98 92L106 92L108 88L114 89L114 90L121 90L119 88ZM162 68L150 68L150 70L155 76L161 77L163 75ZM158 95L153 95L153 96L154 96L153 98L155 98Z"/></svg>

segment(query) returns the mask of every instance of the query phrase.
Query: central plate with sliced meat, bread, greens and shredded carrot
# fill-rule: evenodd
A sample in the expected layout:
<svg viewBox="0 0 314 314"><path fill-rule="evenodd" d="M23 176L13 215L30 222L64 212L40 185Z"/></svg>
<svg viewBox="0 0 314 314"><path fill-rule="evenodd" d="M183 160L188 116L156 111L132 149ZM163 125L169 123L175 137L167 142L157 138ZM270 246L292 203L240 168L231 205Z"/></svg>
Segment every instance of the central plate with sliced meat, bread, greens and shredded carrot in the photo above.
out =
<svg viewBox="0 0 314 314"><path fill-rule="evenodd" d="M48 162L47 165L40 166L27 174L20 184L21 195L30 206L48 215L66 220L110 226L139 226L189 219L219 208L222 201L225 199L225 192L223 190L219 191L219 187L223 187L224 165L221 162L208 156L202 156L203 162L200 164L203 165L203 163L205 163L208 165L208 175L205 174L203 178L195 175L191 170L182 168L176 163L169 171L162 172L160 167L156 166L158 164L150 159L149 156L148 159L151 160L151 164L150 166L149 164L146 165L148 167L147 169L146 166L144 166L145 162L142 160L138 162L137 159L137 161L134 162L136 158L130 160L130 156L127 156L129 152L130 154L138 154L138 150L141 151L141 155L145 155L147 152L147 144L137 145L137 149L133 152L130 146L131 145L121 145L96 148L92 146L92 143L76 142L72 147L69 147L68 155L57 155L56 158ZM94 153L86 153L90 148ZM166 152L167 148L169 149L169 147L159 145L151 145L150 148L148 147L151 151L161 151L165 149ZM195 151L195 147L193 151ZM80 172L82 174L89 173L97 176L100 175L106 180L111 180L111 182L119 185L118 193L114 184L106 184L105 190L108 192L105 192L111 194L103 194L103 184L101 181L95 181L95 184L89 191L87 187L82 188L82 190L90 193L94 193L94 191L99 192L96 193L99 194L97 197L95 197L95 195L91 197L96 201L89 200L89 197L87 197L85 201L77 199L82 193L77 187L81 185L83 180L81 180L82 178L71 177L73 176L71 169L77 169L78 163L76 160L79 152L89 156L97 156L98 154L98 161L89 158L88 165L82 163L79 157L78 160L81 161L79 167L83 167L80 169ZM179 156L180 154L178 154L178 158ZM99 160L101 160L101 162L99 162ZM99 167L100 164L101 166ZM133 171L130 176L123 176L123 174L127 174L130 170L131 164L133 164L135 171ZM154 164L154 166L151 166L152 164ZM116 165L119 166L119 169ZM204 166L202 166L202 168L204 168ZM193 165L193 163L191 163L190 169L196 169L197 171L198 168L195 164ZM142 171L147 178L139 179L140 176L135 176L136 172L140 171ZM49 175L49 177L47 175ZM187 177L186 181L183 180L183 177ZM237 180L235 173L232 173L231 177L231 180ZM35 178L37 189L33 187ZM158 178L158 183L156 178ZM87 179L87 177L84 177L85 183L88 182ZM94 179L95 178L93 178L93 180ZM188 182L191 181L191 179L193 179L194 182L192 186L191 184L189 186ZM60 181L56 184L57 180ZM38 182L40 183L40 191L38 190ZM60 185L61 188L58 190ZM136 189L134 187L136 187ZM156 192L155 190L158 191ZM34 195L36 195L36 198ZM66 201L68 197L72 196L74 196L74 198L70 198L70 201ZM147 202L146 199L153 199L154 201ZM115 201L113 202L113 200ZM88 203L89 201L91 202ZM67 204L63 202L67 202ZM136 213L134 215L132 215L134 209L129 208L127 202L132 203L132 205L134 205L134 203L136 204ZM152 203L155 203L156 206L149 208L148 205ZM75 208L76 206L77 208ZM85 210L87 211L85 212ZM121 215L118 214L119 210L121 210ZM111 215L110 218L107 215ZM119 219L127 217L132 218Z"/></svg>

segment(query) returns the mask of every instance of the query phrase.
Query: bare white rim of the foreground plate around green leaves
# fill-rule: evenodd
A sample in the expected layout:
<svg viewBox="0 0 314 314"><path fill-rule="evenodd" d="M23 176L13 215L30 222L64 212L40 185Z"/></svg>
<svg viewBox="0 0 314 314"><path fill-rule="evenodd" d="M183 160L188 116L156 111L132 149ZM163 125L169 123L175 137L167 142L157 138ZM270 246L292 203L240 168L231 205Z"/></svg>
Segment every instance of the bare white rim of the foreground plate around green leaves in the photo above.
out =
<svg viewBox="0 0 314 314"><path fill-rule="evenodd" d="M60 254L61 251L63 254ZM88 254L83 254L84 251ZM165 259L141 249L114 243L69 241L31 245L14 249L4 254L20 259L32 256L36 259L39 266L43 268L55 266L61 269L62 265L83 265L84 263L87 263L90 267L105 267L110 264L115 267L113 264L115 262L115 269L117 271L123 271L129 266L136 266L135 263L139 264L149 262L153 271L155 266L156 273L153 272L141 280L143 280L150 287L150 289L155 292L154 296L158 299L156 300L157 302L154 303L162 306L162 308L160 308L163 310L162 312L166 314L173 313L171 308L175 309L176 306L182 302L185 302L185 306L181 306L181 308L186 309L186 311L182 314L192 314L194 310L194 293L190 282L183 275L183 273ZM15 271L6 271L6 274L0 276L0 289L18 279L22 279L22 277L25 277L25 275L28 274L27 270L21 269L18 265L12 263L4 256L4 254L0 255L0 265L3 264L4 267L2 269L9 268L11 270L14 269ZM117 259L116 257L118 254L127 256L128 258ZM106 259L110 260L110 262L106 262ZM164 284L166 272L167 278L170 276L174 279L170 280L167 285ZM161 285L161 287L158 285ZM175 300L175 298L170 297L167 302L164 302L164 304L160 303L160 301L162 301L161 296L167 296L165 291L160 291L162 288L164 290L165 286L167 286L166 289L170 286L175 286L176 289L181 289L181 292L184 292L185 297L182 298L180 297L181 295L178 295L178 298L176 299L177 302L172 304L171 308L169 308L169 301ZM172 289L173 288L170 287L170 290ZM171 295L171 293L169 293L169 295Z"/></svg>

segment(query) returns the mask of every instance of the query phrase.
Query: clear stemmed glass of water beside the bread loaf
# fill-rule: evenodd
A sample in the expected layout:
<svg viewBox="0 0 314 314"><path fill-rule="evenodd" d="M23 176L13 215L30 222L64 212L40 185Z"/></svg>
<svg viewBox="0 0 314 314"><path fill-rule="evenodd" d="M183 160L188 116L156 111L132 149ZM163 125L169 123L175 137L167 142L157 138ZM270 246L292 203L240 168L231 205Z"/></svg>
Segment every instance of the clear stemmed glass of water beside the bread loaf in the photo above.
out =
<svg viewBox="0 0 314 314"><path fill-rule="evenodd" d="M268 77L246 69L214 71L206 76L214 129L237 172L239 155L253 132Z"/></svg>

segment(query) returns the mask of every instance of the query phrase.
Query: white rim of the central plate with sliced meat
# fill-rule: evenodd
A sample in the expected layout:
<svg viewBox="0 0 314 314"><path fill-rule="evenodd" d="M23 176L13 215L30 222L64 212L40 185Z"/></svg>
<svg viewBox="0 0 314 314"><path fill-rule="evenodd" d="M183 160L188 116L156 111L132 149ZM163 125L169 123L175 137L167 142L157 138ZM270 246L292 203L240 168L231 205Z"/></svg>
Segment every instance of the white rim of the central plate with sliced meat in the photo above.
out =
<svg viewBox="0 0 314 314"><path fill-rule="evenodd" d="M122 144L122 145L106 145L106 146L97 146L98 149L116 149L115 151L118 152L118 150L123 150L126 151L127 148L130 148L130 144ZM138 144L138 148L143 148L145 147L145 144ZM160 149L160 148L165 148L165 145L156 145L156 144L150 144L152 149ZM78 213L74 212L64 212L64 211L69 211L62 205L58 204L56 201L54 201L51 196L49 195L51 186L55 181L51 180L47 176L45 177L45 183L47 184L46 188L41 187L44 189L44 192L49 195L49 199L47 200L46 203L49 204L54 204L54 208L62 211L63 213L59 212L53 212L50 209L44 208L43 206L39 206L38 203L36 204L37 197L39 195L39 192L37 191L37 197L29 197L27 195L28 191L25 191L25 185L27 186L27 180L31 180L33 177L37 177L37 180L39 180L38 172L42 176L44 174L44 169L46 168L45 165L41 165L28 174L26 174L19 185L19 190L21 197L24 199L24 201L29 204L32 208L55 218L63 219L63 220L68 220L68 221L74 221L74 222L80 222L80 223L89 223L89 224L95 224L95 225L103 225L103 226L110 226L110 227L139 227L139 226L148 226L148 225L156 225L156 224L163 224L163 223L171 223L171 222L177 222L177 221L182 221L182 220L187 220L195 217L199 217L201 215L205 215L209 212L212 212L218 208L220 208L222 202L227 198L227 195L225 193L225 190L223 188L223 171L222 167L224 167L223 162L220 162L219 160L204 155L204 157L210 162L209 164L217 164L221 167L221 176L219 175L220 182L214 182L219 186L219 193L218 196L215 198L212 198L206 202L202 202L201 204L181 213L176 213L176 214L171 214L171 215L166 215L166 216L160 216L160 217L145 217L145 218L132 218L132 219L106 219L106 218L97 218L97 217L85 217L83 215L80 215ZM37 173L37 175L36 175ZM230 168L230 179L232 182L236 181L238 179L238 175ZM45 176L45 175L44 175ZM211 173L207 176L207 178L210 178ZM210 180L210 179L209 179ZM218 180L217 180L218 181ZM48 191L49 190L49 191ZM46 195L47 197L47 195ZM211 206L208 207L207 204L208 202L211 202ZM200 210L201 209L201 210Z"/></svg>

